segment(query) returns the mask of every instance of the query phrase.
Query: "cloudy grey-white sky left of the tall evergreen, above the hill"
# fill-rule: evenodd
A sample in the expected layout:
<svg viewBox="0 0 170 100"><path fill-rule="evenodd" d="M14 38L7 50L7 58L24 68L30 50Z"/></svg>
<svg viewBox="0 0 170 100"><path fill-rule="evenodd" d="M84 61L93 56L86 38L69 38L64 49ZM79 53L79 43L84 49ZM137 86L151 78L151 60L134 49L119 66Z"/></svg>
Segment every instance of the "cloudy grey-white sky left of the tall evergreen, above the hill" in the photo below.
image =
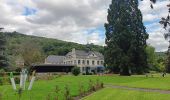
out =
<svg viewBox="0 0 170 100"><path fill-rule="evenodd" d="M104 26L109 3L110 0L1 0L4 16L0 16L0 25L7 31L103 45L100 34L104 32L96 29Z"/></svg>

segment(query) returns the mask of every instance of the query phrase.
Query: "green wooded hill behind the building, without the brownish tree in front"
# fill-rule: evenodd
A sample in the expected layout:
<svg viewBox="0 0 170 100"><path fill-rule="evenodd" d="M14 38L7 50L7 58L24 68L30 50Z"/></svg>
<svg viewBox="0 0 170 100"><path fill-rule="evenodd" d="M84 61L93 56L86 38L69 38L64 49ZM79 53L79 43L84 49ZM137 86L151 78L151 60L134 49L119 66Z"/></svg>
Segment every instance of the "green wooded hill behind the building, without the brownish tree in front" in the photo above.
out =
<svg viewBox="0 0 170 100"><path fill-rule="evenodd" d="M8 55L10 66L15 66L16 58L21 55L21 46L28 46L27 44L36 44L45 57L48 55L65 55L72 48L86 50L89 47L91 50L104 52L104 47L93 44L83 45L57 39L24 35L18 32L5 32L4 34L7 39L6 54ZM27 44L25 45L25 43Z"/></svg>

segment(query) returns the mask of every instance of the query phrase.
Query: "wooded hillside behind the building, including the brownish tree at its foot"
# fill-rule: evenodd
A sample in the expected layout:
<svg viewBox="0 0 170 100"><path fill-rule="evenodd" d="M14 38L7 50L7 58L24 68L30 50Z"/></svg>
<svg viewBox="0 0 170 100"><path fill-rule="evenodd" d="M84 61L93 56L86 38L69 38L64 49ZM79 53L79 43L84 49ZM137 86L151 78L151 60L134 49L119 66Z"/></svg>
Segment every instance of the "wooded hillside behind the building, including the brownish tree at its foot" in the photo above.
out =
<svg viewBox="0 0 170 100"><path fill-rule="evenodd" d="M49 55L66 55L72 48L78 50L89 48L90 50L104 53L103 46L83 45L51 38L28 36L18 32L1 32L1 39L4 41L0 44L3 47L1 51L4 52L2 55L8 64L0 64L0 69L5 70L15 70L19 67L16 64L18 59L23 59L25 66L29 67L32 64L44 63L45 58Z"/></svg>

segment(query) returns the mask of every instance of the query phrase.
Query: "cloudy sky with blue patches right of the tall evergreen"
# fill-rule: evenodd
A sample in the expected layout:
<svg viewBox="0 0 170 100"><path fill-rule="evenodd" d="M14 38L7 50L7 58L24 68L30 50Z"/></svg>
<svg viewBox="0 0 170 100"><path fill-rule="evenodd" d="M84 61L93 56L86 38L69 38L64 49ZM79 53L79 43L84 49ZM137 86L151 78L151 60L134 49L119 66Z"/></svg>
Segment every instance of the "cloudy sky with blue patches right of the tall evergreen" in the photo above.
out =
<svg viewBox="0 0 170 100"><path fill-rule="evenodd" d="M158 0L154 9L150 8L150 0L140 2L139 8L143 14L143 21L149 34L148 44L154 46L156 51L166 51L168 42L164 39L164 29L159 24L162 17L168 14L167 4L169 0Z"/></svg>

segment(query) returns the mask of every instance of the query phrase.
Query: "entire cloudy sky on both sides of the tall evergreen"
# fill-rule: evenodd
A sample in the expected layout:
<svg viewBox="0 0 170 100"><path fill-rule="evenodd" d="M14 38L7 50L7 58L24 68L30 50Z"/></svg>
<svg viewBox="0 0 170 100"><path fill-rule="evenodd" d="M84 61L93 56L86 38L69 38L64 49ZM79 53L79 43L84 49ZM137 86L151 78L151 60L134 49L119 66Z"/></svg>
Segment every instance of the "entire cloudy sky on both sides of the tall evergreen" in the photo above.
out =
<svg viewBox="0 0 170 100"><path fill-rule="evenodd" d="M150 8L150 0L143 0L139 5L150 34L148 43L157 51L167 49L158 22L167 15L168 2L159 0L154 9ZM104 45L103 27L110 3L111 0L1 0L0 26L6 31Z"/></svg>

